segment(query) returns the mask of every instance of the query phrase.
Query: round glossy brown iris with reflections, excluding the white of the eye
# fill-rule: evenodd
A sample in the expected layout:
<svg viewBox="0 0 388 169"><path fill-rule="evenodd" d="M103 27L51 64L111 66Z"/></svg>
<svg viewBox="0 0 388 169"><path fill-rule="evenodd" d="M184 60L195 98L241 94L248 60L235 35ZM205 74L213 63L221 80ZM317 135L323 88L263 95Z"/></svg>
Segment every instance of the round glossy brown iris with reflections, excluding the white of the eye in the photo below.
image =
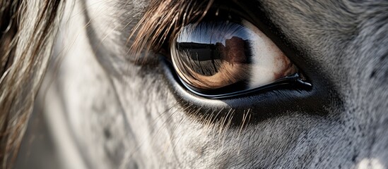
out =
<svg viewBox="0 0 388 169"><path fill-rule="evenodd" d="M199 89L247 80L252 57L245 29L228 21L184 27L172 45L172 61L180 77Z"/></svg>

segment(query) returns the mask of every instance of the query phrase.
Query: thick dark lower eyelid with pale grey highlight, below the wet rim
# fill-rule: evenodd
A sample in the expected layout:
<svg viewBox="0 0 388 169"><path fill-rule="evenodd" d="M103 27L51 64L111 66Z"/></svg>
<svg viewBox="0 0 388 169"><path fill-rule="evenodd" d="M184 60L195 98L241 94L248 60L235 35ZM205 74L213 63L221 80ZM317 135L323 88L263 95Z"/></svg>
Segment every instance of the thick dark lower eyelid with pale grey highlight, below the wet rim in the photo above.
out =
<svg viewBox="0 0 388 169"><path fill-rule="evenodd" d="M165 58L160 58L160 63L164 70L167 86L180 105L182 107L189 105L190 108L200 110L196 112L194 117L212 116L214 112L217 112L218 118L222 118L233 112L232 123L239 125L242 122L242 114L247 111L252 113L252 120L249 123L258 123L260 120L288 112L306 111L316 115L327 113L322 109L317 109L320 105L327 104L327 100L316 98L319 96L319 94L316 94L317 91L311 91L311 89L295 90L290 86L245 94L241 97L206 99L192 94L192 92L187 91L187 88L182 87L179 77L172 72L172 65L170 65L169 61L166 61ZM322 94L327 94L327 92ZM186 111L186 113L191 112Z"/></svg>

